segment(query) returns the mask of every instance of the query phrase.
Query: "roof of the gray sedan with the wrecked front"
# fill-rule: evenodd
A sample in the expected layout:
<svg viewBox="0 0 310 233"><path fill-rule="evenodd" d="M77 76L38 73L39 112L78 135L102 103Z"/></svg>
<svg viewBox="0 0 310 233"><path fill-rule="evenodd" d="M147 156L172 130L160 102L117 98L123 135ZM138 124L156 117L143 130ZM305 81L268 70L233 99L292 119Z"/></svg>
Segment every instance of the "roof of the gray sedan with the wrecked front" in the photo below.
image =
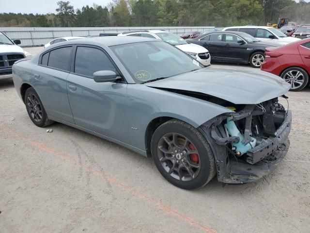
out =
<svg viewBox="0 0 310 233"><path fill-rule="evenodd" d="M114 46L123 45L144 41L157 41L157 39L140 36L101 36L101 37L89 37L79 40L70 40L70 42L62 42L69 44L89 44L89 45L102 45L102 46Z"/></svg>

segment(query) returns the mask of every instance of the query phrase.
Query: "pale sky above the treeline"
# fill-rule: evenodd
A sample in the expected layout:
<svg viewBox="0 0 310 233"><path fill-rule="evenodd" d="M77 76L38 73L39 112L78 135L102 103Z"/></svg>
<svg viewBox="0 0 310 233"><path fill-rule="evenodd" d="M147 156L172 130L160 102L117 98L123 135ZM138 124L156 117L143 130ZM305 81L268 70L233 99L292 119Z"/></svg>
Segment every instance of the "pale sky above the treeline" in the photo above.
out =
<svg viewBox="0 0 310 233"><path fill-rule="evenodd" d="M0 0L0 13L33 13L47 14L55 13L58 0ZM112 0L69 0L74 9L82 8L85 5L93 5L95 2L98 5L106 6ZM295 0L298 1L298 0ZM310 1L310 0L306 0Z"/></svg>

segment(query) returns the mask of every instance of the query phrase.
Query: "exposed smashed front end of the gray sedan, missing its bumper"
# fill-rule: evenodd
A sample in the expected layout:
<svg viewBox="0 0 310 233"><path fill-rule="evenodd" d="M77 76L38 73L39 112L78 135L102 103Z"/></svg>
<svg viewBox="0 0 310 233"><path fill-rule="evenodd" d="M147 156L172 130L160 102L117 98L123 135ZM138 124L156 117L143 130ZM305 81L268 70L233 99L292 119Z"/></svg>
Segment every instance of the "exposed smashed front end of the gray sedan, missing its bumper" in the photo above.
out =
<svg viewBox="0 0 310 233"><path fill-rule="evenodd" d="M199 127L214 152L217 179L224 183L256 181L272 171L289 149L292 113L278 98L226 107L233 112Z"/></svg>

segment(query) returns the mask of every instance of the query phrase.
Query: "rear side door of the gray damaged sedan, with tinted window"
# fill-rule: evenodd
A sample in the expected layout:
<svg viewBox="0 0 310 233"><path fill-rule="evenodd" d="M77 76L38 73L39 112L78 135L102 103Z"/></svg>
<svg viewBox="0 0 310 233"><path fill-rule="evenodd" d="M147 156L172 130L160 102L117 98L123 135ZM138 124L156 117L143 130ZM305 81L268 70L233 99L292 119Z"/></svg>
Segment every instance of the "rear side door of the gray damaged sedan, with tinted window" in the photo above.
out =
<svg viewBox="0 0 310 233"><path fill-rule="evenodd" d="M32 69L32 85L47 115L74 123L67 95L72 46L57 47L42 54Z"/></svg>

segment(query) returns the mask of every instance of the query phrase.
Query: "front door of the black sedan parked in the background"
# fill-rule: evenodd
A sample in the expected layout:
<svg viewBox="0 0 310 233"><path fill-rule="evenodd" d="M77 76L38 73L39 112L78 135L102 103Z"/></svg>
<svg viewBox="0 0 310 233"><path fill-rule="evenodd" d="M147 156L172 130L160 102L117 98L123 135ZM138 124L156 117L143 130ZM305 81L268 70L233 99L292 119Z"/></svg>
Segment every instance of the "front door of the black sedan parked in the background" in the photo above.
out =
<svg viewBox="0 0 310 233"><path fill-rule="evenodd" d="M244 44L238 43L240 40L244 41L244 39L237 35L225 33L225 48L223 50L223 57L225 59L232 61L244 61L246 59L248 44L246 42Z"/></svg>

